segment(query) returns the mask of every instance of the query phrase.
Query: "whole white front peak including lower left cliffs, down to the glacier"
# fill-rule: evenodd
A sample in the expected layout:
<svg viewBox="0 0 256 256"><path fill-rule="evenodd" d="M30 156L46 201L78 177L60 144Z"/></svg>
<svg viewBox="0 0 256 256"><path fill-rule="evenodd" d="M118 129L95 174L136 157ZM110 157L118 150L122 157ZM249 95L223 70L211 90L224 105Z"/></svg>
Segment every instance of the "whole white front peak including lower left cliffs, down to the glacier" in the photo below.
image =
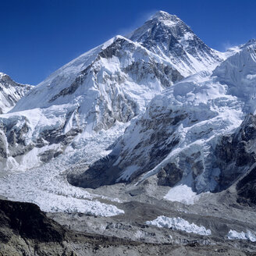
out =
<svg viewBox="0 0 256 256"><path fill-rule="evenodd" d="M47 162L79 133L130 121L181 79L172 63L115 37L57 70L0 117L3 165L26 165L23 155L32 150L37 163Z"/></svg>

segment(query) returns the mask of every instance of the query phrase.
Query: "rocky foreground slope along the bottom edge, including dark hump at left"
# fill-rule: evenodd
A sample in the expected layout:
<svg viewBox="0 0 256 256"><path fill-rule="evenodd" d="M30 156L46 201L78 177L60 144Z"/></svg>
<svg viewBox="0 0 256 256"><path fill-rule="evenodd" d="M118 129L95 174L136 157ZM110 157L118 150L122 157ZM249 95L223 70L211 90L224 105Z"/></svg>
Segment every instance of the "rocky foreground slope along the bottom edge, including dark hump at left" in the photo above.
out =
<svg viewBox="0 0 256 256"><path fill-rule="evenodd" d="M134 204L134 203L133 203ZM128 205L127 205L128 206ZM137 211L144 205L137 204ZM142 208L140 208L142 206ZM59 222L65 220L65 226L48 218L35 204L0 200L0 255L253 255L254 245L233 241L215 236L204 237L197 234L185 236L176 229L165 229L130 223L121 219L105 222L105 233L88 233L95 218L88 215L52 215ZM149 213L153 213L149 208ZM154 215L154 213L153 213ZM145 217L147 218L147 216ZM98 226L102 220L93 225ZM102 225L102 224L101 224ZM233 224L237 225L236 223ZM217 225L218 226L218 225ZM219 223L219 227L222 223ZM128 234L129 238L118 236ZM225 229L225 228L224 228ZM134 234L135 233L135 236ZM171 235L172 234L172 235ZM158 243L149 242L161 237Z"/></svg>

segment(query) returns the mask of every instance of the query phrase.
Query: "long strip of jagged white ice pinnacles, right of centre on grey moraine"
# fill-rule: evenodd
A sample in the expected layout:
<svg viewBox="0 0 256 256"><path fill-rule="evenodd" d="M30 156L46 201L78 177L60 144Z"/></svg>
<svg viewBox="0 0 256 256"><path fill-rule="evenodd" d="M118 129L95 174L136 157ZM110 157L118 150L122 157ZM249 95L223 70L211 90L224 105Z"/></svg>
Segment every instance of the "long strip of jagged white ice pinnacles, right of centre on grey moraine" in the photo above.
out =
<svg viewBox="0 0 256 256"><path fill-rule="evenodd" d="M210 229L205 229L204 226L197 226L194 223L187 222L187 220L180 217L169 218L166 216L158 216L157 219L146 222L148 225L158 226L158 228L168 228L173 230L181 230L187 233L197 233L202 236L210 236L212 234Z"/></svg>

